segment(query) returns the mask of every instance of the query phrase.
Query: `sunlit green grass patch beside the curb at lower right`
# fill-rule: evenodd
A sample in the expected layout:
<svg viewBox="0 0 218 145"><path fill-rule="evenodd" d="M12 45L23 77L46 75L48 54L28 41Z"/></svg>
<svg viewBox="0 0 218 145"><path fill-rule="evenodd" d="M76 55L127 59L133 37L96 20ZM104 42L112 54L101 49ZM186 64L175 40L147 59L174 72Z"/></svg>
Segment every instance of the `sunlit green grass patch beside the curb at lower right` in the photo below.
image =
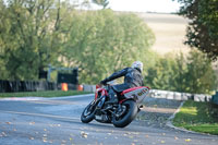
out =
<svg viewBox="0 0 218 145"><path fill-rule="evenodd" d="M218 135L218 106L187 100L175 114L173 125Z"/></svg>

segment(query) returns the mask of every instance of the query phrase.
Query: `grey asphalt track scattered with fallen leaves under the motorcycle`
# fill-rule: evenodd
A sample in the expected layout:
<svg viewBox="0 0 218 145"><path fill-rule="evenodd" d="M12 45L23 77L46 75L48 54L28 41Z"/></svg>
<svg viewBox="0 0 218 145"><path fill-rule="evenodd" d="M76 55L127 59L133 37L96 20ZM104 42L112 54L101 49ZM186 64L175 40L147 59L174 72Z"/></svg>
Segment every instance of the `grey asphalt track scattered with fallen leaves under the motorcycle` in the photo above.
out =
<svg viewBox="0 0 218 145"><path fill-rule="evenodd" d="M82 123L80 116L93 97L86 95L40 100L0 100L0 145L218 144L218 136L174 130L166 126L165 120L150 121L152 118L146 118L146 113L143 113L143 120L133 121L124 129L96 121ZM150 109L147 108L148 111ZM165 111L158 107L155 110ZM167 114L172 113L173 111L169 111ZM159 118L158 113L156 119Z"/></svg>

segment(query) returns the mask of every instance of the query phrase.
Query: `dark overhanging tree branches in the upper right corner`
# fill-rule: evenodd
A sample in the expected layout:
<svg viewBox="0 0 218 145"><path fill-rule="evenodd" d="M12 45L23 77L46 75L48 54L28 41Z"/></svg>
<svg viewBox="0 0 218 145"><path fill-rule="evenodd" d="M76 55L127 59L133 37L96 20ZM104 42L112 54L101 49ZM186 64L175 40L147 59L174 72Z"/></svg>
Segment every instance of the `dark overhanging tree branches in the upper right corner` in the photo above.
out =
<svg viewBox="0 0 218 145"><path fill-rule="evenodd" d="M185 44L211 59L218 57L218 0L178 0L180 14L190 19Z"/></svg>

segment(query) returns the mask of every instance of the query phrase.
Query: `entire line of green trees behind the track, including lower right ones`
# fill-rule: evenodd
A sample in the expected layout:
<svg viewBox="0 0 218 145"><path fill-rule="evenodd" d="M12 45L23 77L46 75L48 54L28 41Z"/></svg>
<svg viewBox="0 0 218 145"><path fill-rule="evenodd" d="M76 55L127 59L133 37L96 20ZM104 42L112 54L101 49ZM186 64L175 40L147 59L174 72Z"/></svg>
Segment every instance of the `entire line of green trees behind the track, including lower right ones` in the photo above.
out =
<svg viewBox="0 0 218 145"><path fill-rule="evenodd" d="M80 83L96 84L114 71L144 62L152 88L211 93L216 73L199 51L158 56L155 35L133 13L83 11L61 0L0 0L0 80L38 80L53 67L77 67Z"/></svg>

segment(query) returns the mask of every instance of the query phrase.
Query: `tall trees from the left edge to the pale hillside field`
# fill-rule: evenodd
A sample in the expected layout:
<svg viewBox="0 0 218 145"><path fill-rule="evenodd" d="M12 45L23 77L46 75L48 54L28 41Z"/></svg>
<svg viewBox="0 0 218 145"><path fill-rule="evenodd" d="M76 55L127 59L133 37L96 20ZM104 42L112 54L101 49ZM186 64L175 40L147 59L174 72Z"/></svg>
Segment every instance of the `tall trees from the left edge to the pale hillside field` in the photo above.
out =
<svg viewBox="0 0 218 145"><path fill-rule="evenodd" d="M153 53L154 34L134 14L76 11L60 0L8 0L0 8L1 80L37 80L51 64L78 67L80 82L93 84Z"/></svg>

